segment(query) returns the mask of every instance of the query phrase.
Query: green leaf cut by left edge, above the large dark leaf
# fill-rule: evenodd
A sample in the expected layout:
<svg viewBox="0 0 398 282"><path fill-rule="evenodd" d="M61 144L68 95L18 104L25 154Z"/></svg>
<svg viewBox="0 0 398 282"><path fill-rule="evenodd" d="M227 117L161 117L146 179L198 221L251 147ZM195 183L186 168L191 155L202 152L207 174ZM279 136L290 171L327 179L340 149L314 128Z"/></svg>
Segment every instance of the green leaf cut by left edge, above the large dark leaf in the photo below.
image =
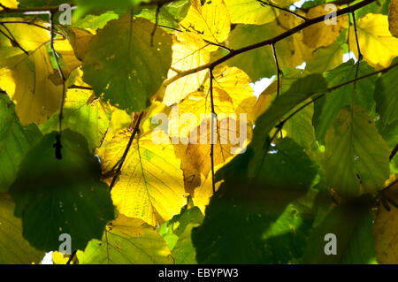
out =
<svg viewBox="0 0 398 282"><path fill-rule="evenodd" d="M0 191L8 190L17 176L19 164L27 150L41 137L37 126L21 126L15 106L6 95L0 95Z"/></svg>

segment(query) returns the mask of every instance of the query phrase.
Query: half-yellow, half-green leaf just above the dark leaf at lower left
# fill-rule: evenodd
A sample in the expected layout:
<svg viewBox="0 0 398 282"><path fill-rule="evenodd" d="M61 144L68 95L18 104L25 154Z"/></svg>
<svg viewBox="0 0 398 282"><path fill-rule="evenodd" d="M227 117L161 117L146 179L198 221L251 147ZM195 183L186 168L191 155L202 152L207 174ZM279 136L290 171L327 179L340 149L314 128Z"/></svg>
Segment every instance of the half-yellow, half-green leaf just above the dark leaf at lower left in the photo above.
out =
<svg viewBox="0 0 398 282"><path fill-rule="evenodd" d="M99 147L111 121L111 107L99 99L92 99L91 90L68 89L64 103L62 128L82 134L88 149ZM43 134L57 131L59 117L54 115L40 126Z"/></svg>

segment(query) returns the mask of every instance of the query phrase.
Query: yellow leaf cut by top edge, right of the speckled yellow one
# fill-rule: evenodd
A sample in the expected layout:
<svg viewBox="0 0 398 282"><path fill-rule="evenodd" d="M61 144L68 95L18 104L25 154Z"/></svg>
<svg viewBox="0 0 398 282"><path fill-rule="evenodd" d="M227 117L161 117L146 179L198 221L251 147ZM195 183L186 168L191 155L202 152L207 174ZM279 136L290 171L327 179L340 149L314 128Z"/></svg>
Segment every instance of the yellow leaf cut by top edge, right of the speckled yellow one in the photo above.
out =
<svg viewBox="0 0 398 282"><path fill-rule="evenodd" d="M225 0L233 24L263 25L276 17L277 11L256 0Z"/></svg>

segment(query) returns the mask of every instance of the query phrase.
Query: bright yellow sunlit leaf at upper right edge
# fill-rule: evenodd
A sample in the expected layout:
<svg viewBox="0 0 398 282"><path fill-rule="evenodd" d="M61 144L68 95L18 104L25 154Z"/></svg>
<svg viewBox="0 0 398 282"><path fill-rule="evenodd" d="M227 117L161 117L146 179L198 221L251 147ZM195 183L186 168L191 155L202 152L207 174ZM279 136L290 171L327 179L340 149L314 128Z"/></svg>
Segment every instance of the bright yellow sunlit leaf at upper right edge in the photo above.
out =
<svg viewBox="0 0 398 282"><path fill-rule="evenodd" d="M375 70L390 65L398 55L398 38L391 35L388 30L387 16L369 13L364 18L358 19L356 29L359 49L364 60ZM349 48L358 57L354 27L350 27L349 30Z"/></svg>

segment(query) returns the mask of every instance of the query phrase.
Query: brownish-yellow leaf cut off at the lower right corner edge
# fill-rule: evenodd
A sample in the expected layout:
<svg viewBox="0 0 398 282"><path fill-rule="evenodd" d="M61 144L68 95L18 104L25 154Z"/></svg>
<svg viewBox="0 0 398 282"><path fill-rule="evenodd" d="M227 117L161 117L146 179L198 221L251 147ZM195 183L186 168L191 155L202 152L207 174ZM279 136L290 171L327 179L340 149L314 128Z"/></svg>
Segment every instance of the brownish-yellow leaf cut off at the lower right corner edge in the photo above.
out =
<svg viewBox="0 0 398 282"><path fill-rule="evenodd" d="M389 198L394 202L398 202L398 184L388 188L384 194L386 199ZM393 205L389 205L389 207L390 210L388 211L380 202L378 216L374 222L372 232L378 262L396 264L398 263L398 209Z"/></svg>

